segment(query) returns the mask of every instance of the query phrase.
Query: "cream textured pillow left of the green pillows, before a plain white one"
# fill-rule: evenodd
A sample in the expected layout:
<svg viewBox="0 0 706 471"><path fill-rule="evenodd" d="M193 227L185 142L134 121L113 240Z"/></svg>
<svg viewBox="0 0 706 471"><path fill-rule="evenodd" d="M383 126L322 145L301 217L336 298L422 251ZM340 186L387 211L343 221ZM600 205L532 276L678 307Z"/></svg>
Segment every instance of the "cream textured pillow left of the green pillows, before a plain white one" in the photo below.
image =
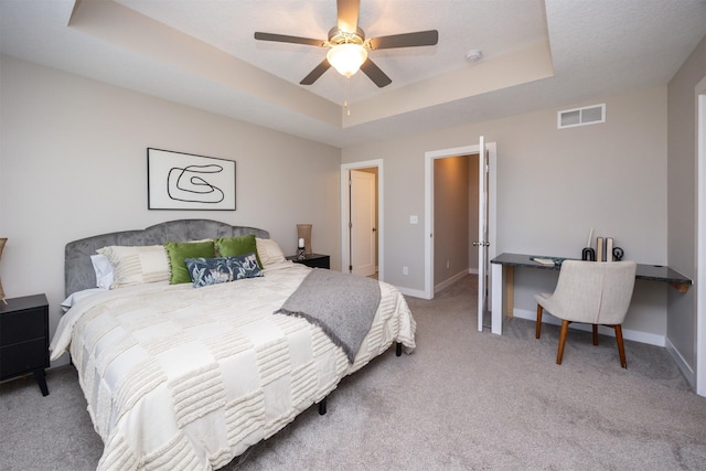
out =
<svg viewBox="0 0 706 471"><path fill-rule="evenodd" d="M138 247L111 245L96 251L105 255L115 267L110 289L168 281L171 278L169 256L162 245Z"/></svg>

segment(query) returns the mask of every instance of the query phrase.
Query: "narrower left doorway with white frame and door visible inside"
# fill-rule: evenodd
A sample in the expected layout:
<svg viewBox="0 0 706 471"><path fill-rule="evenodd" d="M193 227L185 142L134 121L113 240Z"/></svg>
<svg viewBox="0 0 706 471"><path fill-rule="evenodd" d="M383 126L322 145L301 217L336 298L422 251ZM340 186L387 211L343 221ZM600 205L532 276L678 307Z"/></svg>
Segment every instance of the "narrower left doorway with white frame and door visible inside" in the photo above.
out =
<svg viewBox="0 0 706 471"><path fill-rule="evenodd" d="M341 267L384 280L383 161L341 165Z"/></svg>

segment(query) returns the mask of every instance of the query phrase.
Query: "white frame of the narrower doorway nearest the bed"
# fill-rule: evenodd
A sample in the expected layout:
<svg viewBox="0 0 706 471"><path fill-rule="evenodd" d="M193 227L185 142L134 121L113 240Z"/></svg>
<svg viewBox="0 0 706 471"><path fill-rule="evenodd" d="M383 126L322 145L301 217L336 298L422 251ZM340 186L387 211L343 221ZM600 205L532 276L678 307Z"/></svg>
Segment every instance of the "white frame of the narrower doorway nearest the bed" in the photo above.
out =
<svg viewBox="0 0 706 471"><path fill-rule="evenodd" d="M385 217L383 159L365 160L341 164L341 271L347 272L351 266L349 221L351 218L349 192L349 171L360 169L377 169L377 279L385 280Z"/></svg>

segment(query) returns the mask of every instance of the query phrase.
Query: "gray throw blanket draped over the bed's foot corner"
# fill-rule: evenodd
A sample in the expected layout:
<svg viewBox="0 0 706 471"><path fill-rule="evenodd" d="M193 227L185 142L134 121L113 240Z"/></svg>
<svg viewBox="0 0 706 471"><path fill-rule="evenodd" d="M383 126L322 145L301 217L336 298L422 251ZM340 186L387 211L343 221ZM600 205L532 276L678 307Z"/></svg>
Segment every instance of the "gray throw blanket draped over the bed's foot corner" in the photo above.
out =
<svg viewBox="0 0 706 471"><path fill-rule="evenodd" d="M376 280L314 268L275 313L321 328L353 363L379 304Z"/></svg>

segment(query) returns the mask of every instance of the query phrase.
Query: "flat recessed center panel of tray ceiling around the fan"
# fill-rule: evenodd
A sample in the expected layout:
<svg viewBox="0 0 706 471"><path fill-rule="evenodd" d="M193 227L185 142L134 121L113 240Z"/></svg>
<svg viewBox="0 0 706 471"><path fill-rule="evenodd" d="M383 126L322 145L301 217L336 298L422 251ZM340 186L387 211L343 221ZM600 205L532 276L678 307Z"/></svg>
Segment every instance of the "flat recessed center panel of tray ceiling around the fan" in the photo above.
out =
<svg viewBox="0 0 706 471"><path fill-rule="evenodd" d="M170 3L169 9L163 1L117 1L293 84L324 58L327 50L255 42L253 32L325 40L336 22L335 0L182 1ZM371 53L371 58L393 79L385 92L468 67L464 56L471 49L480 49L485 58L492 58L547 39L539 0L362 0L359 25L366 38L440 29L436 46ZM499 31L503 33L498 34ZM340 104L344 82L334 69L329 69L307 89ZM379 92L363 74L352 79L352 101Z"/></svg>

